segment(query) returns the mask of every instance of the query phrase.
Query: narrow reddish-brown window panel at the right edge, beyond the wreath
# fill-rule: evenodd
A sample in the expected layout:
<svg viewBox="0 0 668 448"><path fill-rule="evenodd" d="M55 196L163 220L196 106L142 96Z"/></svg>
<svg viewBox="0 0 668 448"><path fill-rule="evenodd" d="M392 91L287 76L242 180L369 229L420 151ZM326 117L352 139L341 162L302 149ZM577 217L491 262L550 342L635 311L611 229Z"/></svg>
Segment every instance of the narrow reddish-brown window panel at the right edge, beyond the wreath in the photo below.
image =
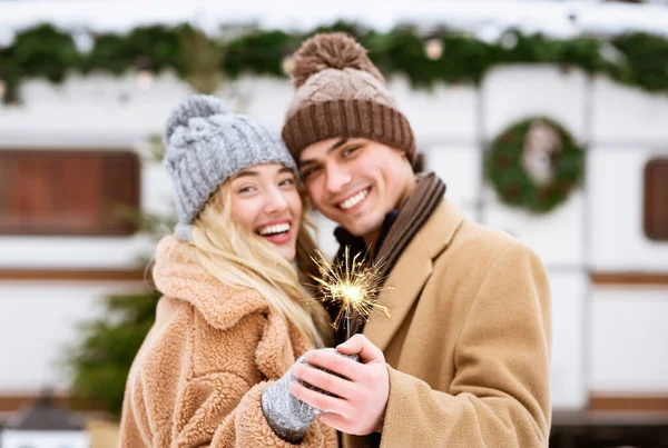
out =
<svg viewBox="0 0 668 448"><path fill-rule="evenodd" d="M647 238L668 241L668 159L650 160L645 167L645 219Z"/></svg>

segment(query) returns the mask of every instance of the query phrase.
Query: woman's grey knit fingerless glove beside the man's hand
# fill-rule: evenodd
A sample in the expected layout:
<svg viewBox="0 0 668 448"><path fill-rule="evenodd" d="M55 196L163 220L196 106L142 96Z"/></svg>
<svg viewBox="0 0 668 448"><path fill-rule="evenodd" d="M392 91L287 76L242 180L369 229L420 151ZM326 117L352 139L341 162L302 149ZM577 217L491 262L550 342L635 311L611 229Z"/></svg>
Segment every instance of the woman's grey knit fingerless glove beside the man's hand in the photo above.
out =
<svg viewBox="0 0 668 448"><path fill-rule="evenodd" d="M348 359L358 359L356 355L342 355L338 351L336 351L335 348L323 348L320 350L327 350ZM295 364L306 364L306 355L307 354L302 355L299 359L295 361ZM315 417L318 414L323 414L323 411L314 408L311 405L305 404L302 400L298 400L297 398L295 398L295 396L293 396L289 392L289 384L292 381L297 380L292 372L293 367L291 367L289 370L283 377L281 377L278 381L267 386L263 390L262 410L265 415L265 418L267 419L267 422L269 424L269 427L272 428L274 434L276 434L276 436L291 444L298 444L306 434L306 430L311 426L311 422L315 419ZM322 370L328 371L326 369ZM314 386L311 386L307 382L303 382L301 380L297 381L299 381L299 384L302 384L304 387L307 387L312 390L316 390L321 394L330 396L332 395Z"/></svg>

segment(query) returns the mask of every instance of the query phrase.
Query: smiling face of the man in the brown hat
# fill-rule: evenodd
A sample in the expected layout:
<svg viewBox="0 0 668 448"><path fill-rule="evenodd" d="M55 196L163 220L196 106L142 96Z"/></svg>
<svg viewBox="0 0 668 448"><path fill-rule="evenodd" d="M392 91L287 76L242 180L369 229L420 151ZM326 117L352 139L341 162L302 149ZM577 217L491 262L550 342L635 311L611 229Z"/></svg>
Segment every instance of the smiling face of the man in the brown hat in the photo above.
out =
<svg viewBox="0 0 668 448"><path fill-rule="evenodd" d="M363 138L311 145L299 153L299 171L315 208L358 237L375 235L414 186L402 151Z"/></svg>

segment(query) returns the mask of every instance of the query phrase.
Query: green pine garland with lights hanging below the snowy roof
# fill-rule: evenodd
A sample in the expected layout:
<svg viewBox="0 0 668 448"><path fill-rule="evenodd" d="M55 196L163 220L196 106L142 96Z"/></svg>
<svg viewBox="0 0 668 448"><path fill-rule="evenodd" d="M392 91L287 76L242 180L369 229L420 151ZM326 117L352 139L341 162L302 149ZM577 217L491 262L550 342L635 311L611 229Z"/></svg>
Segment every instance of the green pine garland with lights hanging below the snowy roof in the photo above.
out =
<svg viewBox="0 0 668 448"><path fill-rule="evenodd" d="M647 33L618 36L608 41L587 37L552 40L541 34L508 30L499 42L488 43L475 37L448 29L424 36L415 27L396 27L377 32L354 23L336 22L307 33L250 29L212 46L224 46L223 76L242 73L284 77L284 58L308 36L321 31L350 32L369 48L371 59L386 76L403 74L416 88L446 83L479 84L484 74L499 64L558 63L580 68L587 73L603 73L627 86L651 92L668 92L668 40ZM4 102L20 100L20 86L30 78L61 82L69 72L92 71L121 74L130 70L161 72L174 70L179 77L193 76L183 60L184 33L191 27L138 27L127 34L91 36L92 49L82 52L75 39L51 24L39 24L19 32L10 47L0 48L0 80ZM430 59L426 39L440 40L443 53Z"/></svg>

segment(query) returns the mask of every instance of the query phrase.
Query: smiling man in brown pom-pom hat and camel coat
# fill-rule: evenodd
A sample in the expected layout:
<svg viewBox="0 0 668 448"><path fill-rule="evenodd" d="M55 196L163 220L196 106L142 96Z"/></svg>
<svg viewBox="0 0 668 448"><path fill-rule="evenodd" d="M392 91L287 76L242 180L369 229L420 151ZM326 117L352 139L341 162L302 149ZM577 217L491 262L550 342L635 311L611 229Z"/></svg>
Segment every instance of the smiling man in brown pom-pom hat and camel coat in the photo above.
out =
<svg viewBox="0 0 668 448"><path fill-rule="evenodd" d="M471 222L434 175L415 178L415 142L366 51L342 33L295 53L283 138L342 248L386 276L374 315L345 344L296 366L292 394L325 411L344 447L548 445L550 292L540 260ZM340 250L337 257L343 257ZM335 313L337 310L332 310Z"/></svg>

